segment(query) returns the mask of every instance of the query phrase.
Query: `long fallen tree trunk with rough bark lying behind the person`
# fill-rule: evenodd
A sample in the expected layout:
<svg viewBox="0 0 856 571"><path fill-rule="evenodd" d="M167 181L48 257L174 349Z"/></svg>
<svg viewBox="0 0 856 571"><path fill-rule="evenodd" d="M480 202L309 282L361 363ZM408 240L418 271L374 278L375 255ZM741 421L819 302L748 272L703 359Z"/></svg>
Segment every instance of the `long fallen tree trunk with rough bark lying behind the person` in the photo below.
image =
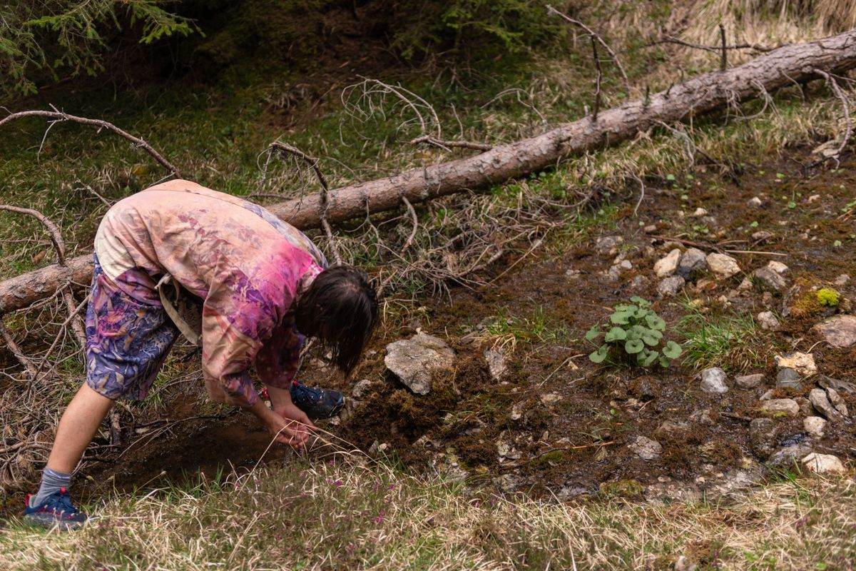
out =
<svg viewBox="0 0 856 571"><path fill-rule="evenodd" d="M627 140L663 123L687 121L765 92L840 74L856 67L856 30L804 44L786 45L724 71L702 74L669 89L470 158L407 170L397 175L292 199L269 210L299 229L395 209L402 199L421 202L497 184L544 170L580 152ZM819 73L820 72L823 73ZM91 256L69 259L0 283L0 315L27 307L67 284L88 283Z"/></svg>

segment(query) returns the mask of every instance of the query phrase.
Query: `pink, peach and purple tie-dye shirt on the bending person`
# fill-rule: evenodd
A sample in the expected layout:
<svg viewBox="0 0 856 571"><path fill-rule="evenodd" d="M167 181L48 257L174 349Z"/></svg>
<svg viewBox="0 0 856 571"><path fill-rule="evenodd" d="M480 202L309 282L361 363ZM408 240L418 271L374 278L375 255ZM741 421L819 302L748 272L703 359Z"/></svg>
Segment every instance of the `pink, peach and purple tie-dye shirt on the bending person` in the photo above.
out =
<svg viewBox="0 0 856 571"><path fill-rule="evenodd" d="M204 300L202 371L212 398L258 400L248 370L287 388L303 336L289 311L301 280L326 266L306 235L259 205L191 181L168 181L116 203L95 238L104 275L142 303L161 306L169 273Z"/></svg>

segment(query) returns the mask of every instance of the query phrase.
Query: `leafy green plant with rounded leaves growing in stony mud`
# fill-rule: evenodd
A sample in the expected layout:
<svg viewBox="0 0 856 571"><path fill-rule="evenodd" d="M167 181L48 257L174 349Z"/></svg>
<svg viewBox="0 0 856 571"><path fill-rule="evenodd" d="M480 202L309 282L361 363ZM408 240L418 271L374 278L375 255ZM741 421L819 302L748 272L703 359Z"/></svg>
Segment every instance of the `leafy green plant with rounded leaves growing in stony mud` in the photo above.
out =
<svg viewBox="0 0 856 571"><path fill-rule="evenodd" d="M669 366L669 360L681 355L681 346L669 341L657 351L663 341L666 322L651 309L651 302L633 296L629 302L614 307L609 323L595 324L586 333L586 341L597 344L603 336L603 344L589 355L595 363L603 363L615 349L619 357L635 359L638 366L651 366L659 362L660 366ZM601 329L603 327L603 329ZM661 354L662 353L662 354Z"/></svg>

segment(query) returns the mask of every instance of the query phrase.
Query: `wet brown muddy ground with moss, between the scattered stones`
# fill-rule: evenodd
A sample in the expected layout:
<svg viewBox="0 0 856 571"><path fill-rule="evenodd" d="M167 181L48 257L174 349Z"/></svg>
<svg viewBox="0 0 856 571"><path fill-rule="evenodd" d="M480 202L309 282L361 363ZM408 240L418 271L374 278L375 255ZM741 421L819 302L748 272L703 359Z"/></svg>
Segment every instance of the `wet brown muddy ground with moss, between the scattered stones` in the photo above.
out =
<svg viewBox="0 0 856 571"><path fill-rule="evenodd" d="M788 288L794 283L831 284L842 274L856 278L856 216L842 211L853 200L856 162L805 170L811 160L799 151L747 167L740 173L740 186L712 172L649 181L638 217L633 217L635 199L628 200L619 205L613 223L594 229L586 242L564 248L561 255L550 253L562 248L550 245L548 238L544 248L511 271L505 272L520 253L491 268L492 276L486 278L498 279L490 287L452 288L450 300L419 300L413 312L379 331L351 382L318 360L305 366L306 384L327 384L350 394L356 381L372 382L359 401L351 399L342 418L318 425L343 449L385 455L416 472L445 473L470 485L538 497L617 493L682 500L705 493L719 496L770 477L764 458L752 447L749 420L765 415L758 399L775 386L773 356L811 348L819 372L856 378L856 348L831 348L811 331L836 309L794 312L781 330L758 328L756 336L711 354L710 364L728 372L730 390L724 395L700 390L698 369L681 363L683 358L666 370L597 366L586 356L594 347L583 335L609 317L610 306L632 295L654 301L653 308L668 324L667 338L677 342L684 337L675 326L693 300L699 313L713 319L756 316L768 309L781 315L787 296L764 294L757 286L737 289L770 259L788 265ZM761 206L748 204L755 197ZM706 217L692 216L698 207L708 211ZM770 237L752 239L760 230ZM623 243L598 253L597 240L604 236L621 236ZM691 244L654 236L698 243L705 252L718 244L785 255L735 253L743 270L739 275L728 280L697 275L674 297L662 298L654 263L672 248ZM621 253L633 267L610 277L609 268ZM856 294L853 279L835 288L845 299ZM508 327L497 327L501 320ZM413 395L383 365L386 345L417 331L447 340L456 354L454 372L438 374L427 396ZM516 336L516 344L497 332ZM507 355L507 372L500 378L488 370L488 348L504 348ZM188 372L195 359L187 360ZM758 389L734 386L735 375L755 372L766 374ZM813 387L808 379L803 390L779 390L776 396L805 396ZM99 455L78 474L85 496L163 485L164 479L193 481L200 472L211 477L218 470L253 467L259 461L288 461L291 453L269 447L267 433L247 414L191 419L223 413L212 412L203 393L193 376L164 389L164 418L185 420L146 425L153 419L135 419L127 424L125 437L133 445ZM856 398L842 396L856 410ZM806 443L852 461L852 424L830 422L824 436L812 440L803 429L804 417L773 415L772 445ZM123 419L130 420L126 413ZM665 421L687 425L669 430L668 425L663 428ZM642 460L628 448L639 436L657 439L661 454ZM331 451L319 445L310 455L329 458Z"/></svg>

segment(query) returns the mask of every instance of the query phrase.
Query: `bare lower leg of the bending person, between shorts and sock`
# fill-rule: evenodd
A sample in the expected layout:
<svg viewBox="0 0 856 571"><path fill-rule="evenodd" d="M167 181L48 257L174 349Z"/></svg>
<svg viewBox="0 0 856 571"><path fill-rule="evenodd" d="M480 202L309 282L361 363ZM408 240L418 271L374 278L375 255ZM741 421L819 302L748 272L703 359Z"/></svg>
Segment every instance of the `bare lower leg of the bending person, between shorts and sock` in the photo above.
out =
<svg viewBox="0 0 856 571"><path fill-rule="evenodd" d="M74 472L83 451L92 442L95 431L112 406L112 400L98 395L84 383L62 413L47 467L56 472Z"/></svg>

